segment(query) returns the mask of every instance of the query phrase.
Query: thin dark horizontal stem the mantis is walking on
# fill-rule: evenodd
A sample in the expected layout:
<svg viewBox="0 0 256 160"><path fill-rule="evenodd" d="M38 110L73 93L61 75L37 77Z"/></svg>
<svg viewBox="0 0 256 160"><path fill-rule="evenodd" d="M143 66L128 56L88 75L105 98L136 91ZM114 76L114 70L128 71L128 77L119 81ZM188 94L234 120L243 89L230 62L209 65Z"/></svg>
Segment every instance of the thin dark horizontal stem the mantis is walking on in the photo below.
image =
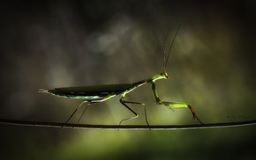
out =
<svg viewBox="0 0 256 160"><path fill-rule="evenodd" d="M63 127L64 123L24 121L24 120L5 120L0 119L0 124L32 127ZM242 127L256 125L256 120L228 122L228 123L210 123L204 125L172 125L172 126L119 126L119 125L87 125L87 124L66 124L64 128L83 128L83 129L111 129L111 130L178 130L178 129L202 129L214 127Z"/></svg>

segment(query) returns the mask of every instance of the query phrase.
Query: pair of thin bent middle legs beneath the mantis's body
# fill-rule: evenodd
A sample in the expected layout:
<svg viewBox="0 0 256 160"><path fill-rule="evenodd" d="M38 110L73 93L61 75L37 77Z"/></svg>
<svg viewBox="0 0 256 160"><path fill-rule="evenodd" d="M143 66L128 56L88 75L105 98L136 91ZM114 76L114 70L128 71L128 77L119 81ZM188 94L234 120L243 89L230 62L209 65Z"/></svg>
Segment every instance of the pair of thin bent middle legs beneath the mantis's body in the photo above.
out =
<svg viewBox="0 0 256 160"><path fill-rule="evenodd" d="M124 105L127 109L129 109L133 114L135 114L135 116L134 116L134 117L131 117L131 118L128 118L128 119L121 120L121 121L119 122L119 125L121 125L121 123L122 123L123 121L125 121L125 120L132 120L132 119L136 119L136 118L139 117L139 114L138 114L138 113L135 113L128 105L126 105L126 104L128 104L128 103L129 103L129 104L135 104L135 105L143 105L143 106L144 106L144 112L145 112L145 119L146 119L146 122L147 122L146 105L145 105L144 103L139 103L139 102L124 101L123 99L124 99L124 96L125 96L126 92L129 92L129 91L124 91L124 92L122 93L121 98L120 98L120 103L121 103L122 105ZM126 104L125 104L125 103L126 103ZM149 126L149 123L148 123L148 122L147 122L147 126Z"/></svg>

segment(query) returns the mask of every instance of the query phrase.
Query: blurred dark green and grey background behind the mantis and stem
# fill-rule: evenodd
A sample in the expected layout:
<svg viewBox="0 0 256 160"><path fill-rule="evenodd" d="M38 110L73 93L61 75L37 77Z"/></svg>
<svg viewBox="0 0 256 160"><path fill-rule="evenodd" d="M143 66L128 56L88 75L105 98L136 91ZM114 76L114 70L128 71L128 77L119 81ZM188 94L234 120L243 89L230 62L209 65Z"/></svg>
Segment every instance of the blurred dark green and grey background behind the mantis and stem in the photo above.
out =
<svg viewBox="0 0 256 160"><path fill-rule="evenodd" d="M133 83L162 72L162 100L185 102L204 123L255 120L255 1L2 1L0 118L64 122L81 103L38 89ZM151 125L198 124L155 105L151 85L127 94ZM143 107L124 125L146 125ZM83 108L70 121L76 123ZM119 96L90 105L79 123L131 117ZM3 159L253 159L256 127L111 131L1 125Z"/></svg>

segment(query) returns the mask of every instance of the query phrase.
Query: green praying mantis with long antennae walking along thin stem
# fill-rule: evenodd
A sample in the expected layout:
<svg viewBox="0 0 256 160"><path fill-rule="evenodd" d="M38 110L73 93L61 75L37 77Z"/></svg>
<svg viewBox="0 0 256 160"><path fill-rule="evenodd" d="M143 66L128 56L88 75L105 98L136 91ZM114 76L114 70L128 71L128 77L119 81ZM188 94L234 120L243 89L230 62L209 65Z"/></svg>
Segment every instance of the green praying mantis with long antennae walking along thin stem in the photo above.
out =
<svg viewBox="0 0 256 160"><path fill-rule="evenodd" d="M164 52L163 52L163 72L160 73L159 75L155 75L152 77L149 77L147 79L141 80L139 82L135 82L133 84L108 84L108 85L94 85L94 86L79 86L79 87L64 87L64 88L55 88L53 90L46 90L46 89L39 89L39 92L43 93L49 93L51 95L57 96L57 97L62 97L62 98L78 98L78 99L83 99L83 102L76 108L76 110L72 113L70 118L66 120L64 123L64 126L68 123L69 120L72 119L72 116L79 110L79 107L83 104L86 105L86 109L80 116L79 120L82 118L83 114L87 110L87 106L94 104L94 103L100 103L104 102L106 100L109 100L109 98L113 98L119 94L120 96L120 103L124 105L129 111L131 111L135 116L121 120L119 122L119 125L121 125L122 122L125 120L132 120L136 119L139 117L138 113L135 113L127 104L134 104L134 105L143 105L144 106L144 111L145 111L145 119L147 122L147 125L149 126L149 123L147 121L147 112L146 112L146 105L144 103L139 103L139 102L131 102L131 101L125 101L124 97L127 93L130 93L131 91L139 88L140 86L144 84L151 84L152 85L152 91L153 91L153 96L154 96L154 101L157 105L165 105L168 106L171 109L175 108L189 108L190 111L192 112L193 119L197 119L200 124L203 124L200 119L196 116L194 110L192 109L191 105L185 104L185 103L179 103L179 102L168 102L168 101L162 101L157 94L156 91L156 85L155 81L160 80L160 79L168 79L169 76L166 72L166 67L169 59L169 54L170 50L173 47L173 43L177 37L177 33L180 29L180 26L177 29L177 32L170 44L168 55L166 56L166 46L167 46L167 38L168 38L168 33L166 35L165 39L165 45L164 45ZM79 121L78 121L79 122Z"/></svg>

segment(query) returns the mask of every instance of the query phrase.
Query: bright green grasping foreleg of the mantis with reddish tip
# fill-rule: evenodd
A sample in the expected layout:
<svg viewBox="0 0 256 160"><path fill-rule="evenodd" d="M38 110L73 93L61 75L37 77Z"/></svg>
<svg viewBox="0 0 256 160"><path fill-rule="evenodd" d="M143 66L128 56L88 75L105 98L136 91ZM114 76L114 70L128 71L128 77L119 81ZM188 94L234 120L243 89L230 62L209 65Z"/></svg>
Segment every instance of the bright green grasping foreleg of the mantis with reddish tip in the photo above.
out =
<svg viewBox="0 0 256 160"><path fill-rule="evenodd" d="M158 105L166 105L166 106L168 106L171 109L187 107L187 108L189 108L191 110L192 115L193 115L193 119L197 119L200 122L200 124L203 124L201 122L201 120L196 116L196 114L195 114L194 110L192 109L191 105L187 105L185 103L161 101L160 98L158 97L158 94L157 94L157 91L156 91L156 85L154 84L153 81L151 82L151 84L152 84L152 91L153 91L153 95L154 95L154 101L155 101L156 104L158 104Z"/></svg>

